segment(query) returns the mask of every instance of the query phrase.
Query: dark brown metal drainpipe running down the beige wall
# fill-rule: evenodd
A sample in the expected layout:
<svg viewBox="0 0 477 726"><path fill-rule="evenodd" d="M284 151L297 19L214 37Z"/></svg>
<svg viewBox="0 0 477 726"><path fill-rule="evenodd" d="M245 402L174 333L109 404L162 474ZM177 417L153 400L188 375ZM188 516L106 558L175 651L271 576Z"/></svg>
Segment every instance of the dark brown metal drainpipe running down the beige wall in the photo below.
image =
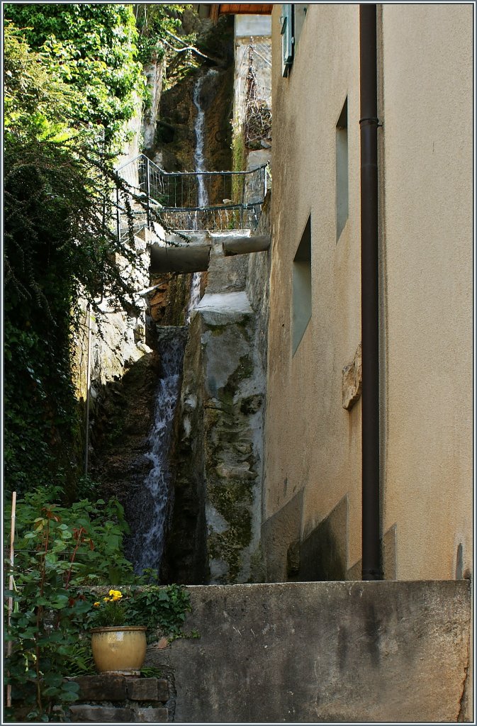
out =
<svg viewBox="0 0 477 726"><path fill-rule="evenodd" d="M359 6L361 119L362 579L382 579L379 471L376 5Z"/></svg>

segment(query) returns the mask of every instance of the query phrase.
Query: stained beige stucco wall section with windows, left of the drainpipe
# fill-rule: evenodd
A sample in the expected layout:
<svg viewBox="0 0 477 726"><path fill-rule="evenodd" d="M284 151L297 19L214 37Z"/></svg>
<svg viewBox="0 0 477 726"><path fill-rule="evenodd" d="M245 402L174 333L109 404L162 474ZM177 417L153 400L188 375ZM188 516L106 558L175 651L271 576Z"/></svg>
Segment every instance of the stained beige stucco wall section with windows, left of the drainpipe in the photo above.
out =
<svg viewBox="0 0 477 726"><path fill-rule="evenodd" d="M348 565L360 556L360 403L341 406L341 370L360 339L359 185L335 232L335 127L348 95L349 170L359 179L358 7L309 8L293 68L281 73L272 14L274 153L265 517L303 489L303 535L348 494ZM311 213L313 314L291 349L292 265Z"/></svg>

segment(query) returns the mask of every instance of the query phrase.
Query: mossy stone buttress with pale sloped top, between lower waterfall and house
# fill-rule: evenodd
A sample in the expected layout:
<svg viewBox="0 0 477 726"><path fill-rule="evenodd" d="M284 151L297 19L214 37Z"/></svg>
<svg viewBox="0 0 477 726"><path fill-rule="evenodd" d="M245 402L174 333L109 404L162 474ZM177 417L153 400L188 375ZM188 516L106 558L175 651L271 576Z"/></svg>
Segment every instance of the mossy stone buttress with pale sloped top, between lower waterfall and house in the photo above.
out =
<svg viewBox="0 0 477 726"><path fill-rule="evenodd" d="M166 553L176 581L189 584L260 579L264 367L247 256L225 258L211 239L208 286L184 356Z"/></svg>

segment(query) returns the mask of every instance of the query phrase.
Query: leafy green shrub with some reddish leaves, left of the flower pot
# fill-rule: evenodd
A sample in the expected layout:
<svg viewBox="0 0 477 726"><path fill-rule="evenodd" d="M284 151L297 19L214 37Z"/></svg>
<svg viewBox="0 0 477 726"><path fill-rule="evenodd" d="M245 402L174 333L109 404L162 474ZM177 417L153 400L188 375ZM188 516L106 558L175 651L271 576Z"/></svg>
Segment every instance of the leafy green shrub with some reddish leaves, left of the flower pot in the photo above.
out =
<svg viewBox="0 0 477 726"><path fill-rule="evenodd" d="M81 640L91 610L84 588L134 581L122 554L128 527L121 505L51 503L59 494L36 490L17 502L15 566L9 572L14 589L6 591L15 603L7 627L12 652L6 682L12 698L30 706L27 718L33 721L49 720L55 705L75 701L78 688L64 678L91 667Z"/></svg>

